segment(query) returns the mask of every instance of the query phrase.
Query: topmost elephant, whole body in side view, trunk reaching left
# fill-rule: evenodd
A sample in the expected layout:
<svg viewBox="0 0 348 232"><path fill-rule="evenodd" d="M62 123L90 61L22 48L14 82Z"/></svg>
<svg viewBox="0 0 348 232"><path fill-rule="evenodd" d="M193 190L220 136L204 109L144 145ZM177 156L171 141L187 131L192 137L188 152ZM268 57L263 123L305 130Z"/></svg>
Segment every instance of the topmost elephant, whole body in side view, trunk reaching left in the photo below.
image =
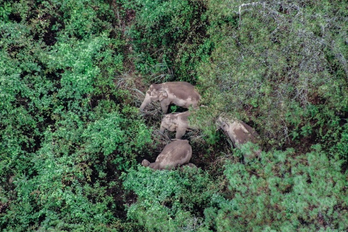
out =
<svg viewBox="0 0 348 232"><path fill-rule="evenodd" d="M145 99L140 106L140 112L153 101L160 101L163 113L167 113L168 106L174 103L177 106L188 108L189 105L196 107L200 100L199 93L194 86L185 81L165 82L152 84L146 92Z"/></svg>

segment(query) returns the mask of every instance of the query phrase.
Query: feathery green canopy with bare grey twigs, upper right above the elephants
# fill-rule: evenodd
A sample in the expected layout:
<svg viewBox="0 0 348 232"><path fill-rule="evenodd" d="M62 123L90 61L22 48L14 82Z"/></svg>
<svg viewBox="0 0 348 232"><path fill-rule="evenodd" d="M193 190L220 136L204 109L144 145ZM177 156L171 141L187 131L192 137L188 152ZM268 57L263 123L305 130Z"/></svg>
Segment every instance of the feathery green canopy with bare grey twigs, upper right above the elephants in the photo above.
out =
<svg viewBox="0 0 348 232"><path fill-rule="evenodd" d="M342 118L348 54L340 1L257 2L241 6L239 14L242 3L208 3L207 33L215 48L199 67L197 83L212 114L253 121L271 144L289 141L292 129L295 137L309 136Z"/></svg>

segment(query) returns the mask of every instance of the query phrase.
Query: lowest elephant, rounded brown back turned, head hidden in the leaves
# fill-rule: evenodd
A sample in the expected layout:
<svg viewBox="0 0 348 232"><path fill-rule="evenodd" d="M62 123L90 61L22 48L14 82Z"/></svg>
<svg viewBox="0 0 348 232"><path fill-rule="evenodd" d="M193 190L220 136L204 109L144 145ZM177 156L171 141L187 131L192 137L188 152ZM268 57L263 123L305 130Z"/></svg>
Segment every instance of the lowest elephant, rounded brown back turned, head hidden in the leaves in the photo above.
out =
<svg viewBox="0 0 348 232"><path fill-rule="evenodd" d="M188 140L176 140L164 147L156 162L143 160L141 164L152 169L172 169L188 163L192 156L192 148Z"/></svg>

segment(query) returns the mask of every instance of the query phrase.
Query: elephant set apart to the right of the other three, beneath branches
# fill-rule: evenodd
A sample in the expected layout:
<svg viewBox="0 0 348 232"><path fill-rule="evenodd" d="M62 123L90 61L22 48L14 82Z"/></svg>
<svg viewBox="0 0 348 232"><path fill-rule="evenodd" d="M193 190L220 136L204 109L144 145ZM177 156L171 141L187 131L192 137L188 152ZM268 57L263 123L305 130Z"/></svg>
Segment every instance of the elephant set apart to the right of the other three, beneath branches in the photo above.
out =
<svg viewBox="0 0 348 232"><path fill-rule="evenodd" d="M233 145L240 149L240 144L252 142L257 144L259 142L259 134L249 125L238 119L228 120L227 118L219 117L216 120L217 130L222 128L227 132ZM261 149L254 150L252 154L243 154L244 158L254 158L261 153Z"/></svg>

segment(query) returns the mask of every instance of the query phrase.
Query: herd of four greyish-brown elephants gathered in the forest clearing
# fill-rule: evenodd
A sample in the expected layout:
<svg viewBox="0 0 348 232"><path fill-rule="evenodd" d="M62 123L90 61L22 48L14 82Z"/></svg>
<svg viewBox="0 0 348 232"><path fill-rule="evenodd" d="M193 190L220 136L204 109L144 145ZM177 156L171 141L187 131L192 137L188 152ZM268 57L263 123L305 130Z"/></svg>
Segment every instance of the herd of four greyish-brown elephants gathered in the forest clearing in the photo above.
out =
<svg viewBox="0 0 348 232"><path fill-rule="evenodd" d="M184 108L191 105L194 109L199 109L198 102L201 96L188 82L176 81L165 82L162 84L152 84L146 92L145 99L140 106L140 112L146 112L145 107L153 101L160 101L164 116L162 117L160 131L165 129L176 131L174 141L166 145L163 151L158 155L155 162L150 163L147 160L142 161L142 165L152 169L172 169L175 167L196 167L189 163L192 156L192 148L188 140L182 140L188 128L199 129L195 126L189 126L188 117L190 111L182 113L169 113L168 106L175 104ZM202 107L202 106L201 106ZM233 145L240 149L241 144L251 142L258 143L258 133L246 123L238 119L229 119L223 114L215 121L216 128L223 129L230 137ZM254 158L258 156L261 149L252 149L250 153L244 153L244 158Z"/></svg>

